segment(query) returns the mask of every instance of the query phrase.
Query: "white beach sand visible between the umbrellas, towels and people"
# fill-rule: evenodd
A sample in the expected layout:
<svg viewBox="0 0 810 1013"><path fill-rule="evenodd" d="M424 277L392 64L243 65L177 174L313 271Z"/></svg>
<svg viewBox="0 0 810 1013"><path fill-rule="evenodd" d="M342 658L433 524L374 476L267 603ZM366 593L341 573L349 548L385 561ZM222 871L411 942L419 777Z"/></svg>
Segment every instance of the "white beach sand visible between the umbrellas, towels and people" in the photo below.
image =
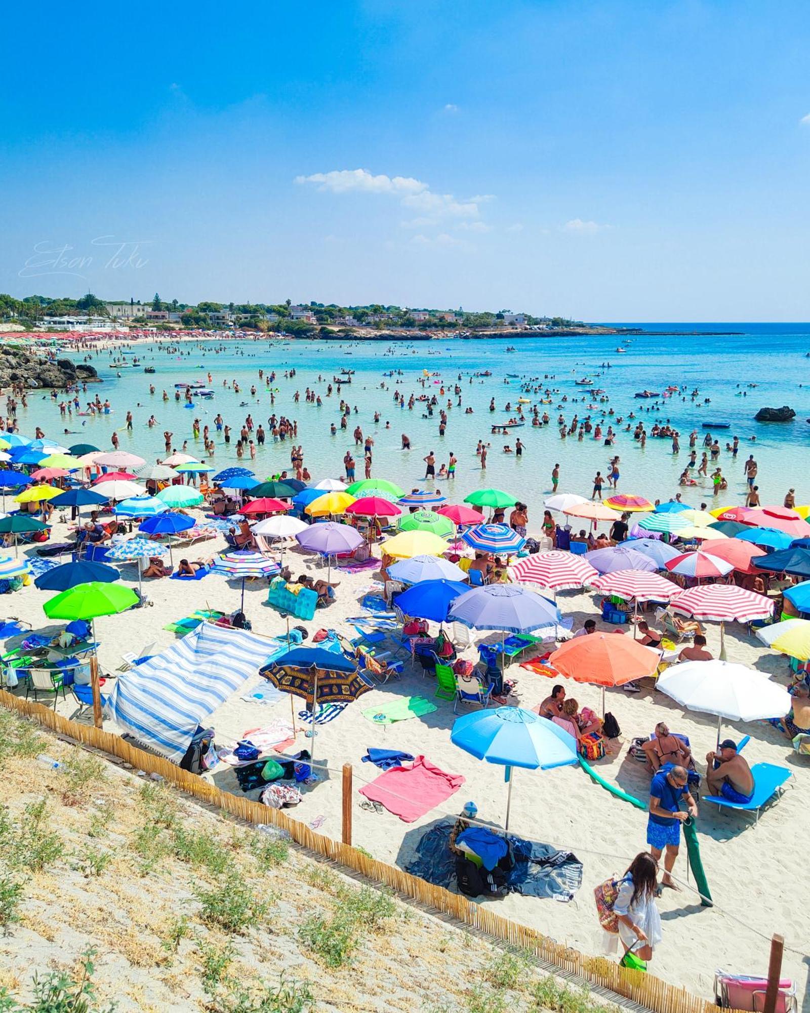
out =
<svg viewBox="0 0 810 1013"><path fill-rule="evenodd" d="M64 527L57 525L54 538L63 539L65 535ZM184 553L175 552L175 560L182 554L189 559L205 558L222 546L222 540L204 543ZM292 553L286 558L294 574L321 570L310 556ZM135 577L133 566L124 566L123 571L127 577ZM374 580L374 571L341 574L340 580L337 601L329 609L319 610L315 621L304 624L311 632L320 626L329 626L354 634L345 618L359 611L357 599L361 597L361 590ZM145 591L154 602L153 608L96 622L96 633L101 640L99 657L106 672L114 673L123 651L137 652L152 640L157 641L158 649L173 642L174 635L162 629L165 623L195 608L211 606L230 611L239 604L238 582L230 583L218 575L210 575L199 582L152 580L145 583ZM49 597L50 594L33 587L25 588L3 600L3 615L26 619L35 629L40 629L48 625L42 606ZM265 599L266 581L253 587L248 583L246 613L254 630L269 635L281 633L286 621L263 605ZM575 626L595 614L590 596L566 594L561 596L560 604L564 614L573 613ZM787 681L787 659L763 648L758 641L748 637L742 627L728 629L726 640L730 660L755 666L776 674L781 682ZM709 647L717 653L716 626L710 625ZM474 656L474 651L467 653ZM512 667L510 675L519 683L513 702L524 707L535 706L551 688L547 679L517 666ZM575 696L581 705L598 709L599 690L595 687L568 684L566 688L569 696ZM406 666L402 680L366 694L335 721L321 726L316 757L325 759L328 764L329 780L305 793L304 802L295 815L306 822L324 816L321 833L339 837L340 769L350 762L354 765L354 843L376 858L392 863L410 858L420 828L429 826L446 812L434 809L416 824L407 825L388 812L376 814L360 809L356 789L362 781L372 780L378 773L369 764L361 764L360 757L367 747L379 746L402 749L414 755L424 754L444 770L463 774L467 783L451 799L448 811L455 813L467 799L473 799L482 819L502 824L506 801L503 770L480 763L451 745L453 704L435 701L438 705L435 713L386 728L372 725L361 715L363 708L395 695L421 694L432 699L433 692L432 679L425 679L420 670ZM295 709L300 710L301 701L294 702ZM64 704L60 700L58 709L66 715L75 711L70 699ZM467 709L462 706L460 712ZM615 756L597 764L598 770L643 800L647 797L649 776L642 764L628 757L627 745L631 737L649 733L657 720L665 719L673 730L690 736L701 766L705 754L714 748L715 718L684 713L668 698L649 689L637 695L621 690L609 691L608 709L619 720L623 741L621 749L620 744L616 744ZM266 723L270 717L289 719L290 714L291 704L287 697L272 706L264 706L244 702L236 694L213 715L210 723L217 728L220 745L236 739L246 728ZM702 805L699 822L702 856L716 907L701 908L696 893L685 885L678 893L665 891L659 902L664 939L651 969L667 981L709 997L718 967L743 973L764 973L767 940L772 933L781 932L789 947L785 954L785 973L798 983L803 993L807 970L800 952L806 953L810 948L810 881L806 858L810 798L808 760L796 757L788 739L765 723L736 727L727 724L724 727L728 734L736 737L745 733L751 735L745 751L749 763L768 761L788 766L795 775L791 782L793 787L763 812L756 828L747 814L718 813L716 807ZM311 745L303 733L299 734L298 742L302 748ZM213 777L224 787L234 783L233 774L223 771L222 767ZM601 935L592 890L612 873L623 872L637 852L646 849L645 814L592 784L576 767L549 772L517 771L510 830L573 851L584 864L582 887L575 901L568 905L517 894L484 903L585 953L600 952ZM682 852L675 874L685 880L685 848Z"/></svg>

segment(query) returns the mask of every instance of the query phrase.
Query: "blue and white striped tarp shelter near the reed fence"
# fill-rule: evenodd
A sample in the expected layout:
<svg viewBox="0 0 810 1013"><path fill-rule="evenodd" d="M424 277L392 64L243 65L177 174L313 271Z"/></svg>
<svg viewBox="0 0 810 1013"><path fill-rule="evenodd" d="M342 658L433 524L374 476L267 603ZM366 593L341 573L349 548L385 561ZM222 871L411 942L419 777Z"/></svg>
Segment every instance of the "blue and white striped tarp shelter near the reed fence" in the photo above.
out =
<svg viewBox="0 0 810 1013"><path fill-rule="evenodd" d="M115 721L179 763L197 726L273 653L245 630L201 623L182 640L122 674L110 695Z"/></svg>

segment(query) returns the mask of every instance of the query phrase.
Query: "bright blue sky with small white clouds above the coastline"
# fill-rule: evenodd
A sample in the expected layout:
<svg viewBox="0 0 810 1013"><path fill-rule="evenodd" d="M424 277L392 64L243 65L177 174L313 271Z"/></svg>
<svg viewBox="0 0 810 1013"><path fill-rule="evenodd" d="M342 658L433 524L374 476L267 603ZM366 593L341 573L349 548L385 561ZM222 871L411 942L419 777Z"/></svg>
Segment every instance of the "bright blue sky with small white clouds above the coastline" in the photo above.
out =
<svg viewBox="0 0 810 1013"><path fill-rule="evenodd" d="M0 291L810 319L806 3L37 21L5 12Z"/></svg>

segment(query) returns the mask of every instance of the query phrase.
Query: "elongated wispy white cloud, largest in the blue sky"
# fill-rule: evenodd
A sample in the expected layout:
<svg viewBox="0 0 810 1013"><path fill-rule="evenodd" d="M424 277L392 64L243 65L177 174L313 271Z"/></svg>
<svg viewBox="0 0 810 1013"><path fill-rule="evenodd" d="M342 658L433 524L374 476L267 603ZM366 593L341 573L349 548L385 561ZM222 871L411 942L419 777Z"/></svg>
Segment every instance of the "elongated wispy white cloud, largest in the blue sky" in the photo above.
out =
<svg viewBox="0 0 810 1013"><path fill-rule="evenodd" d="M453 193L434 193L427 183L412 176L374 175L368 169L333 169L296 176L299 185L313 184L330 193L375 193L398 198L405 208L421 217L477 218L479 205L493 200L491 194L460 200Z"/></svg>

